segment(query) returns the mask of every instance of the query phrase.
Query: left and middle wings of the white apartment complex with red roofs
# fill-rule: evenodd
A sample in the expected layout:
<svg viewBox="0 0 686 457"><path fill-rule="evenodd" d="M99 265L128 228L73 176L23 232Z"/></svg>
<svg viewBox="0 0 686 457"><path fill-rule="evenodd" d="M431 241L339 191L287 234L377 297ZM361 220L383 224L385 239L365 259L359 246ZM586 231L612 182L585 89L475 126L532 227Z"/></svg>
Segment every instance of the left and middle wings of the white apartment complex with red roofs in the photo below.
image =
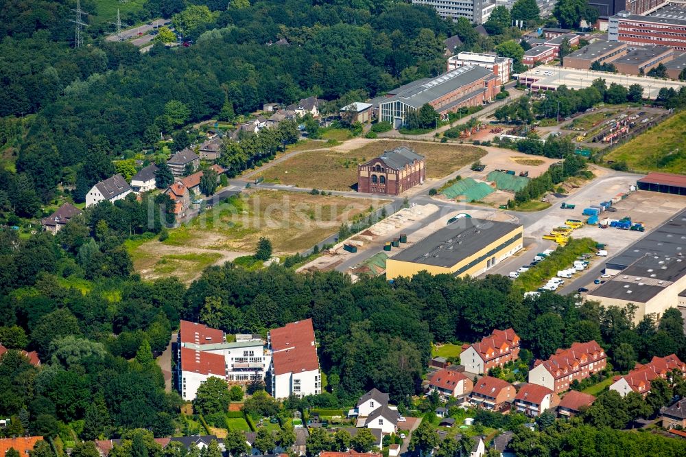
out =
<svg viewBox="0 0 686 457"><path fill-rule="evenodd" d="M248 384L265 379L271 363L270 351L259 336L237 335L226 342L224 332L206 325L181 321L176 343L176 382L184 399L211 376L229 384Z"/></svg>

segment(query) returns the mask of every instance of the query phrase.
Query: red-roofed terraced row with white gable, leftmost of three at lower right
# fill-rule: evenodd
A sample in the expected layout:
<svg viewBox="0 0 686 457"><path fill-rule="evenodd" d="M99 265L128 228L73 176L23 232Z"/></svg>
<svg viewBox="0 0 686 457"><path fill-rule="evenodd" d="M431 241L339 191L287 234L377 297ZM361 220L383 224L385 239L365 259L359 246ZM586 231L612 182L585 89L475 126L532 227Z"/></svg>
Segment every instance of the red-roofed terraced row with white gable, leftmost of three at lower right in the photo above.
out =
<svg viewBox="0 0 686 457"><path fill-rule="evenodd" d="M477 375L519 358L519 336L513 329L494 330L480 342L465 344L460 354L464 371Z"/></svg>

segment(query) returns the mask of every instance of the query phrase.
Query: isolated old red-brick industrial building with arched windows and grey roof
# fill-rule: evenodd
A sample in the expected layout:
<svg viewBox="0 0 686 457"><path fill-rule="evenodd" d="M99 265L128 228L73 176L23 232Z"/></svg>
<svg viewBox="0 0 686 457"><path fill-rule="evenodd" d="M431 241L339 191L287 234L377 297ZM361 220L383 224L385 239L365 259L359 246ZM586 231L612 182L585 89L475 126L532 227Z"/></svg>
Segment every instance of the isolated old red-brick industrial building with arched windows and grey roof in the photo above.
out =
<svg viewBox="0 0 686 457"><path fill-rule="evenodd" d="M398 195L423 183L425 178L424 157L405 146L357 165L358 192Z"/></svg>

